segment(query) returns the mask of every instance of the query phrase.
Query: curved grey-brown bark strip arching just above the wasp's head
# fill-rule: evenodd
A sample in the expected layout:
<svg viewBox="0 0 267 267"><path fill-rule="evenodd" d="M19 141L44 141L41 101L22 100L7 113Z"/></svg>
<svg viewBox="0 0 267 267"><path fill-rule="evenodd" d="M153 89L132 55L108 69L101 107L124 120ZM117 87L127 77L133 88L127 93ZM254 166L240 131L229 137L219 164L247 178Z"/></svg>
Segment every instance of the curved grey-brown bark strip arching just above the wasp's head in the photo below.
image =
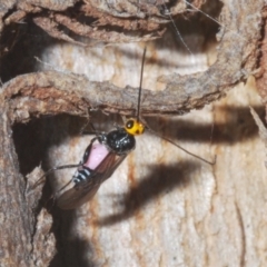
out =
<svg viewBox="0 0 267 267"><path fill-rule="evenodd" d="M224 96L240 80L246 80L247 76L255 70L257 62L263 6L263 0L256 2L251 0L246 7L241 7L239 1L225 6L221 24L226 27L220 32L222 39L216 63L207 71L194 76L181 77L174 73L160 77L159 79L167 83L166 89L160 92L144 91L142 113L184 113L201 108ZM82 7L82 9L86 8ZM102 9L107 12L103 7ZM236 12L237 10L239 12ZM37 17L34 20L40 22L43 19ZM65 21L66 27L68 23L72 27L73 21L66 16L56 14L55 19ZM67 22L66 19L70 21ZM47 27L51 31L55 29L55 22L51 27L48 24ZM79 29L77 26L77 31ZM82 30L79 33L87 36L88 32ZM63 39L69 40L69 37L65 36ZM49 90L51 95L41 88ZM47 95L55 96L57 99L52 100L52 97L49 98ZM72 98L72 96L76 97ZM29 113L34 116L60 112L85 115L86 107L129 115L134 112L136 96L135 88L121 91L120 88L107 82L90 82L85 77L56 72L26 75L4 86L4 97L7 100L12 99L10 105L16 107L18 121L29 119Z"/></svg>

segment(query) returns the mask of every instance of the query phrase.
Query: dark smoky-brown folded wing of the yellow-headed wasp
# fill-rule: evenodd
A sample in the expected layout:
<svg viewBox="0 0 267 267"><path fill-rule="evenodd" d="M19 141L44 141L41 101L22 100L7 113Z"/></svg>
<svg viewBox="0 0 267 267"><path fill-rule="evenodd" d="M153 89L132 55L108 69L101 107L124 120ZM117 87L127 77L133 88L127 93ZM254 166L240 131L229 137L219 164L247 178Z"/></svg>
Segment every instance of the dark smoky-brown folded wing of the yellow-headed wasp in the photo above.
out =
<svg viewBox="0 0 267 267"><path fill-rule="evenodd" d="M100 185L113 174L127 155L118 156L115 152L109 152L86 180L80 181L58 198L58 207L61 209L75 209L89 201Z"/></svg>

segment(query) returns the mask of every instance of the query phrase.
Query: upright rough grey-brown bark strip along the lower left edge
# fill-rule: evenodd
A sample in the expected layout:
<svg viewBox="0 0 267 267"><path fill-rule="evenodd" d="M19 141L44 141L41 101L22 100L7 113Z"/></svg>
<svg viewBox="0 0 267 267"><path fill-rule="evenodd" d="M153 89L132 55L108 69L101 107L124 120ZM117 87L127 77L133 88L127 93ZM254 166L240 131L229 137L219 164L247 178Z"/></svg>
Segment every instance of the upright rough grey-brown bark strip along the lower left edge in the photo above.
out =
<svg viewBox="0 0 267 267"><path fill-rule="evenodd" d="M19 174L18 158L8 116L8 105L0 99L1 160L0 160L0 265L32 266L30 253L34 216L24 198L26 182ZM14 241L16 240L16 241Z"/></svg>

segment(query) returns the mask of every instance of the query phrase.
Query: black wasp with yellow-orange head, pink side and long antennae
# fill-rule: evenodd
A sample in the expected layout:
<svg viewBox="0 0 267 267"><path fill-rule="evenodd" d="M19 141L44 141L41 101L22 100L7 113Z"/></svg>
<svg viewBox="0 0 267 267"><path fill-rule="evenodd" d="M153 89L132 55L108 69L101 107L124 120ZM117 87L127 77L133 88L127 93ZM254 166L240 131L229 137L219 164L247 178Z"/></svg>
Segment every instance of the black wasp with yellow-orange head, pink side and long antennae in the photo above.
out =
<svg viewBox="0 0 267 267"><path fill-rule="evenodd" d="M86 148L86 151L80 164L55 167L44 174L44 176L47 176L49 172L55 170L65 168L77 168L75 175L72 176L72 179L69 182L67 182L66 186L59 189L55 195L59 208L75 209L77 207L80 207L85 202L89 201L96 195L100 185L112 176L112 174L125 160L125 158L129 155L129 152L135 149L136 147L135 136L142 135L145 132L145 129L152 131L147 126L147 123L140 119L141 82L145 58L146 48L142 55L136 118L127 119L123 127L117 126L115 130L111 130L109 132L97 132L96 136L90 141L89 146ZM159 136L157 132L155 131L152 132ZM215 164L215 160L210 162L184 149L182 147L172 142L168 138L165 137L161 138L171 142L172 145L180 148L185 152L194 157L197 157L198 159L207 164L210 165ZM36 186L42 182L42 178L44 176L40 178ZM57 197L57 195L59 195L59 192L66 189L70 184L73 184L73 186L70 189L63 191L59 197Z"/></svg>

